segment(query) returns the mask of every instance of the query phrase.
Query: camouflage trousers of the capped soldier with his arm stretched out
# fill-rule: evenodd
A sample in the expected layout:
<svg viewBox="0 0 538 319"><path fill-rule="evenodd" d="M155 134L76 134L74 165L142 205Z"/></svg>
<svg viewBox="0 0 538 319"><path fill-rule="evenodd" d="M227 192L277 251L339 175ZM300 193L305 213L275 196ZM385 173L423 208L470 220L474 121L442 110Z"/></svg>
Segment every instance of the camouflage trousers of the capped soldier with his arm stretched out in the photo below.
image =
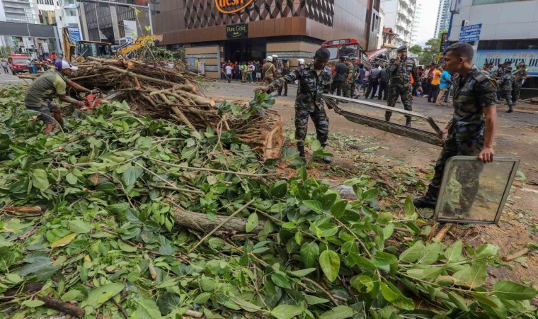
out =
<svg viewBox="0 0 538 319"><path fill-rule="evenodd" d="M311 108L295 107L295 139L297 144L302 144L307 138L308 118L312 118L314 127L316 128L317 139L321 146L326 145L328 138L328 117L325 113L325 108L314 106Z"/></svg>

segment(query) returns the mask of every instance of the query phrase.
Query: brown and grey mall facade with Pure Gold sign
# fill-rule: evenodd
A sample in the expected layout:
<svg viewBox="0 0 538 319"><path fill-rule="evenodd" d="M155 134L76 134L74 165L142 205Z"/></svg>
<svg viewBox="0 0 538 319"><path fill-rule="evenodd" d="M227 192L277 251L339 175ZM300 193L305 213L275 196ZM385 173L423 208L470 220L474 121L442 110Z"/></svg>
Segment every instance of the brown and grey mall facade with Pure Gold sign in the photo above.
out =
<svg viewBox="0 0 538 319"><path fill-rule="evenodd" d="M355 38L374 49L379 30L379 0L161 0L158 10L160 45L185 47L210 77L225 60L310 60L324 40Z"/></svg>

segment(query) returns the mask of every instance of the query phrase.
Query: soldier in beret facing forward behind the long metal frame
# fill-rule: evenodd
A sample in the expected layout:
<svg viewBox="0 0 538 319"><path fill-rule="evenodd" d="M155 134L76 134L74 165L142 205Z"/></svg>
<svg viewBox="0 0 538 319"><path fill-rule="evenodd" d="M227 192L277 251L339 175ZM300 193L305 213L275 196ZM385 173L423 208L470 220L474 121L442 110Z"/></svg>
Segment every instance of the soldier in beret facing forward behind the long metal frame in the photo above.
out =
<svg viewBox="0 0 538 319"><path fill-rule="evenodd" d="M418 83L417 91L422 92L422 86L419 82L415 60L407 58L407 47L402 45L396 50L398 57L391 59L387 72L389 73L389 98L387 106L394 108L396 100L401 97L404 108L407 111L413 111L413 96L411 91L411 76ZM385 121L391 121L392 112L385 112ZM411 116L406 116L406 126L411 127Z"/></svg>

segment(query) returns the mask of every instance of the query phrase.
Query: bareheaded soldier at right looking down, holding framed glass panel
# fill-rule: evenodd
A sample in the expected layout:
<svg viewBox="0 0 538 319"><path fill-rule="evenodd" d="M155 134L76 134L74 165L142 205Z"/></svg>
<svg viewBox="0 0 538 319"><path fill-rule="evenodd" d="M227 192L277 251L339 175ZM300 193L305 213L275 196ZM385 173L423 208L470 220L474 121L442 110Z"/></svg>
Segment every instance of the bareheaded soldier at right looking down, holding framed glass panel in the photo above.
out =
<svg viewBox="0 0 538 319"><path fill-rule="evenodd" d="M435 174L425 196L416 198L416 208L435 208L445 162L456 155L478 156L481 162L493 161L493 140L496 132L497 84L491 74L473 65L473 47L469 43L455 43L445 50L445 65L450 73L459 73L454 80L454 115L443 130L447 135ZM460 207L454 215L466 215L479 190L479 174L483 163L473 162L460 167L457 181L462 184Z"/></svg>

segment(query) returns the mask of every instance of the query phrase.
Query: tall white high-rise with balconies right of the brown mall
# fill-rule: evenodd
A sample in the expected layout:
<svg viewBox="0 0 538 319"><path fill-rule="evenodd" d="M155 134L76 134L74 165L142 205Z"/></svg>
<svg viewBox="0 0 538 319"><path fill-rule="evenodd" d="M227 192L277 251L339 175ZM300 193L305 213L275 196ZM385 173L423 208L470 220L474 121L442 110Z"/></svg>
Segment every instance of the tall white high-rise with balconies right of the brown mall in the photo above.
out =
<svg viewBox="0 0 538 319"><path fill-rule="evenodd" d="M397 34L392 44L396 47L411 44L416 0L382 0L381 6L385 11L384 28L391 28Z"/></svg>

